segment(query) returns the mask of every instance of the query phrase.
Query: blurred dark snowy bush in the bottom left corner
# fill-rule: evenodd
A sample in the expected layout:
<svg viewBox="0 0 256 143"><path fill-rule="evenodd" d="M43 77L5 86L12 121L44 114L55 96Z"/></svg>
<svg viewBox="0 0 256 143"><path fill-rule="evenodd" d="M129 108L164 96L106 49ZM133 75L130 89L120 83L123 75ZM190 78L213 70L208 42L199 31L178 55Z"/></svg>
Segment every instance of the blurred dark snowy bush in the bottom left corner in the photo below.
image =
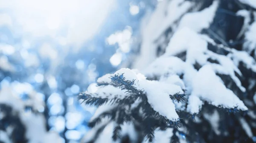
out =
<svg viewBox="0 0 256 143"><path fill-rule="evenodd" d="M22 101L13 93L15 85L4 85L0 91L0 142L1 143L62 143L57 132L47 131L46 121L40 110L44 101L35 91ZM17 85L16 85L17 86Z"/></svg>

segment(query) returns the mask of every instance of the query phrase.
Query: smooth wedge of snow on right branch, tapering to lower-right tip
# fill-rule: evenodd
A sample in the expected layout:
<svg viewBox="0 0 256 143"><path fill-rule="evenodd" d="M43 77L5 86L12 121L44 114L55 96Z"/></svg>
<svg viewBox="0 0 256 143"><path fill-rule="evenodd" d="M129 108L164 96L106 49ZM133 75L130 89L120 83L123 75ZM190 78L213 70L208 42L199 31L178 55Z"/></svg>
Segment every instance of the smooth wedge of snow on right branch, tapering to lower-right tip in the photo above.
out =
<svg viewBox="0 0 256 143"><path fill-rule="evenodd" d="M247 107L233 91L225 87L210 65L202 67L195 76L195 79L192 95L196 95L216 107L219 105L224 108L238 106L238 109L247 110Z"/></svg>

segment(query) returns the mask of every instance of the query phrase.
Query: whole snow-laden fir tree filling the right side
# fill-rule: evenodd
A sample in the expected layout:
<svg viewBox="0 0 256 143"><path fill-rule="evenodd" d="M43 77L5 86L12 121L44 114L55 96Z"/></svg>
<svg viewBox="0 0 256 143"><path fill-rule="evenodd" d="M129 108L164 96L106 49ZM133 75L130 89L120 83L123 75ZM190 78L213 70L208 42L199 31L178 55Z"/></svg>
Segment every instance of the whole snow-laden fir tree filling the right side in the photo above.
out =
<svg viewBox="0 0 256 143"><path fill-rule="evenodd" d="M255 4L159 2L125 64L134 69L79 94L98 107L82 142L256 142Z"/></svg>

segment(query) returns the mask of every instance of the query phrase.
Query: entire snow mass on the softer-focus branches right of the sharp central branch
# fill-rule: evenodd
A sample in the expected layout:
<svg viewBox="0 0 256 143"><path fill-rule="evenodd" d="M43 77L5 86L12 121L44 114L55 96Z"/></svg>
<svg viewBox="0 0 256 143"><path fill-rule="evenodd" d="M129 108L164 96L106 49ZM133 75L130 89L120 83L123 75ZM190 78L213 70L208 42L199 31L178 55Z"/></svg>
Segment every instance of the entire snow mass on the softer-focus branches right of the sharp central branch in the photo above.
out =
<svg viewBox="0 0 256 143"><path fill-rule="evenodd" d="M227 89L221 82L221 79L216 75L216 73L229 75L240 90L244 91L244 87L241 86L241 82L235 76L235 73L241 75L237 67L237 61L241 61L242 59L238 59L239 56L237 55L244 53L233 51L233 53L230 53L226 57L208 50L208 44L211 43L204 36L197 34L189 28L185 27L177 30L166 48L166 53L143 70L143 73L145 76L152 78L154 76L161 77L166 74L177 74L178 76L183 74L183 81L187 90L186 93L192 96L189 97L188 104L188 112L190 113L198 113L200 111L203 103L199 99L217 107L238 107L238 109L247 110L243 102L231 90ZM185 62L175 57L183 52L186 52ZM209 58L217 60L218 64L208 62ZM247 65L253 66L253 59L244 60ZM205 66L201 67L199 71L196 71L193 67L196 63ZM216 86L220 90L215 90ZM198 98L195 96L198 96ZM221 100L222 96L227 98L227 100Z"/></svg>

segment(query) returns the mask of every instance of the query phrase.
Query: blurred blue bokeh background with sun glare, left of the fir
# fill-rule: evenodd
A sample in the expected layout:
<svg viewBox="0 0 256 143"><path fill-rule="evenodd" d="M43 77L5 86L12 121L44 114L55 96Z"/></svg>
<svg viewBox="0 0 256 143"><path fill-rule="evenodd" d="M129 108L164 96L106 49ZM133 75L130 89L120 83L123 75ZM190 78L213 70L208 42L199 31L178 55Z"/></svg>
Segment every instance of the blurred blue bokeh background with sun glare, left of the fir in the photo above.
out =
<svg viewBox="0 0 256 143"><path fill-rule="evenodd" d="M0 142L77 143L76 95L116 70L156 0L0 0Z"/></svg>

